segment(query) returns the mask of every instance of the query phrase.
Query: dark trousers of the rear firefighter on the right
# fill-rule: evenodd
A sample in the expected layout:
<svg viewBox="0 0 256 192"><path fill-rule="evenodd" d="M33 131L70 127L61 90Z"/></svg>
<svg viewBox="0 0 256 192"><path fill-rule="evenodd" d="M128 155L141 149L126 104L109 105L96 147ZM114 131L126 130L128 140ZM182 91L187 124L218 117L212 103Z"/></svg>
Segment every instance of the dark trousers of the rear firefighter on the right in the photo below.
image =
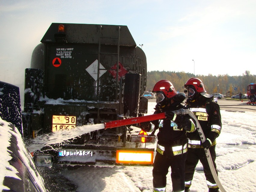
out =
<svg viewBox="0 0 256 192"><path fill-rule="evenodd" d="M218 175L218 172L216 169L216 163L215 163L215 159L216 159L215 145L210 147L209 151L212 157L212 163ZM185 186L186 187L191 186L191 182L195 172L195 167L197 166L197 163L199 160L203 165L203 171L206 177L206 183L208 188L217 189L218 186L212 176L212 172L208 164L204 148L188 148L187 149L187 160L185 163Z"/></svg>

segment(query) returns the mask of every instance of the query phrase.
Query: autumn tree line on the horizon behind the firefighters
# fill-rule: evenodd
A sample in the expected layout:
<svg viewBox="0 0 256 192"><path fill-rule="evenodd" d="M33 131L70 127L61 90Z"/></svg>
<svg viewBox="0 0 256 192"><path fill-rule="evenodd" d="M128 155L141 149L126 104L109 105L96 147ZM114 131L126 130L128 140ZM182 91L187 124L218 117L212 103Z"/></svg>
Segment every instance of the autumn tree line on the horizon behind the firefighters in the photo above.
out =
<svg viewBox="0 0 256 192"><path fill-rule="evenodd" d="M184 84L192 77L194 74L183 71L150 71L147 74L147 91L152 91L157 81L167 79L172 82L177 92L184 92ZM207 93L221 93L227 97L240 92L246 93L247 85L256 83L256 75L251 75L250 71L245 71L243 75L239 76L229 76L228 74L213 76L209 74L207 76L196 75L195 77L203 81Z"/></svg>

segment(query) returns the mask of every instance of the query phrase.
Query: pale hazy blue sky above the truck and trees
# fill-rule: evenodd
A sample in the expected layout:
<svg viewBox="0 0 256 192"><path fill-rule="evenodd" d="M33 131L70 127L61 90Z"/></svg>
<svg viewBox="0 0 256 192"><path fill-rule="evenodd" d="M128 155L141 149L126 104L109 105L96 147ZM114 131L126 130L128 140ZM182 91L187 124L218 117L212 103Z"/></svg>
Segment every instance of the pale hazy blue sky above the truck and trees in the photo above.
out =
<svg viewBox="0 0 256 192"><path fill-rule="evenodd" d="M148 71L256 75L255 10L255 0L1 0L0 81L23 86L51 23L126 25Z"/></svg>

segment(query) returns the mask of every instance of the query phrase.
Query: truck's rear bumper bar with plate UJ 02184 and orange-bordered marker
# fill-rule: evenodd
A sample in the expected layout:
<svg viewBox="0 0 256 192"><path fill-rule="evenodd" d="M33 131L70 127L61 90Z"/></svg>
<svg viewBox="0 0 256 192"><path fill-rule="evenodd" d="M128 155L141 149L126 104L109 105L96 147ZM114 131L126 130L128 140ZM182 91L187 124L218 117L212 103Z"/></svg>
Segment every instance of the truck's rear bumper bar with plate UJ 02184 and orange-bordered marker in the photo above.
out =
<svg viewBox="0 0 256 192"><path fill-rule="evenodd" d="M54 154L57 164L153 165L154 148L62 145Z"/></svg>

